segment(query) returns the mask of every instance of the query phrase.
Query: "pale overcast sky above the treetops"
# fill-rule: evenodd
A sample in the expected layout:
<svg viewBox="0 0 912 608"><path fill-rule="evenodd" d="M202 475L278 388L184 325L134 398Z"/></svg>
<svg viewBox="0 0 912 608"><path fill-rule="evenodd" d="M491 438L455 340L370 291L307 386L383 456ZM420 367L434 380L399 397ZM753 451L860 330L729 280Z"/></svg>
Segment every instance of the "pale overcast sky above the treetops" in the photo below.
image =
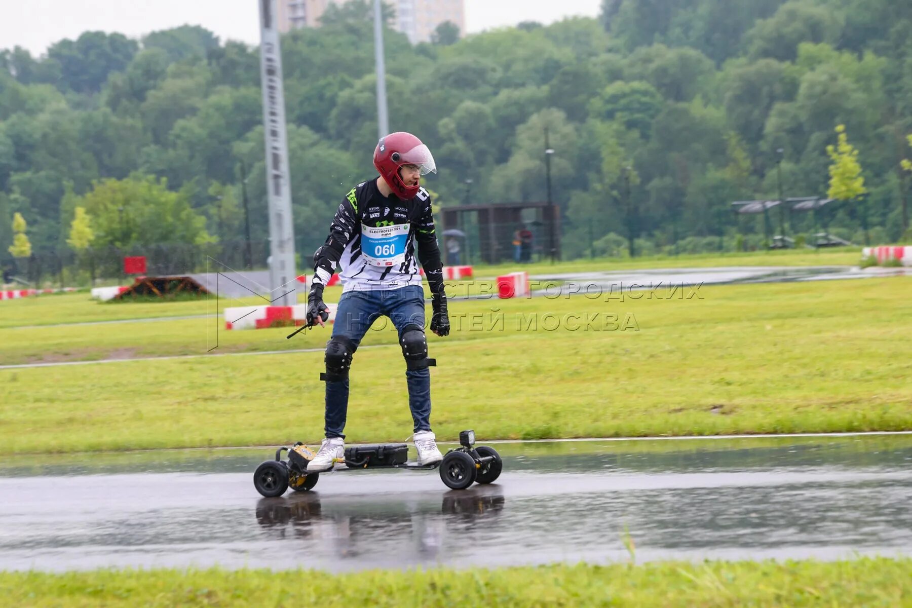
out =
<svg viewBox="0 0 912 608"><path fill-rule="evenodd" d="M598 14L599 0L465 0L466 29L551 23L565 16ZM141 36L183 24L203 26L223 41L259 38L255 0L0 0L0 48L25 46L35 55L61 38L86 30Z"/></svg>

